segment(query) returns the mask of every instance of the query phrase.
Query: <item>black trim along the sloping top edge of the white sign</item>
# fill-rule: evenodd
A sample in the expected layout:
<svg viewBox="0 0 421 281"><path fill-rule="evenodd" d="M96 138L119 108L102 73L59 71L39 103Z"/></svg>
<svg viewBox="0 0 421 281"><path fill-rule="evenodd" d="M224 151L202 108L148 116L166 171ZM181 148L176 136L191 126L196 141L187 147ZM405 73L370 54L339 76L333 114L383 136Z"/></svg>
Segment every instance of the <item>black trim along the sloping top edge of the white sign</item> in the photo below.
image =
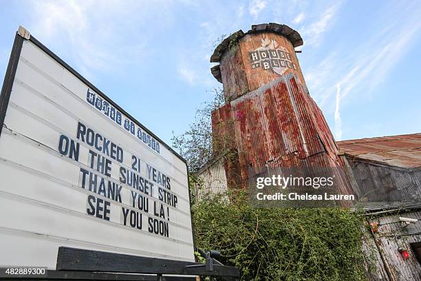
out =
<svg viewBox="0 0 421 281"><path fill-rule="evenodd" d="M158 138L158 136L156 136L155 134L153 134L153 132L151 132L147 127L144 127L144 125L142 125L142 123L140 123L138 120L136 120L136 118L134 118L129 113L127 113L125 110L123 110L119 105L117 105L114 101L112 101L111 98L109 98L101 90L99 90L97 87L95 87L91 82L87 81L87 79L85 79L85 77L83 77L82 75L80 75L76 70L74 70L73 67L71 67L70 65L68 65L67 63L65 63L65 61L63 61L62 59L60 59L56 54L54 54L54 52L52 52L50 49L48 49L47 47L45 47L45 45L43 45L43 43L41 43L40 41L38 41L32 35L31 35L29 41L31 41L32 43L34 43L34 45L36 45L36 47L38 47L41 50L43 50L43 52L45 52L46 54L48 54L49 56L51 56L57 63L60 63L63 67L65 67L65 69L67 71L71 72L80 81L82 81L83 83L85 83L86 85L88 85L88 87L91 88L91 90L94 90L97 94L100 94L103 98L105 98L106 101L108 101L111 105L113 105L114 107L116 107L122 114L125 114L125 116L127 116L128 118L130 118L139 127L141 127L142 129L144 129L145 132L147 132L148 134L150 134L151 136L153 136L153 138L155 138L157 141L159 141L160 144L164 145L164 147L166 147L166 149L169 149L170 152L172 152L173 154L175 154L175 156L177 156L178 158L180 158L180 160L182 160L187 165L186 159L182 158L182 156L180 156L180 154L178 154L177 152L175 152L175 150L172 147L170 147L169 145L167 145L166 143L164 143L164 141L162 141L160 138Z"/></svg>

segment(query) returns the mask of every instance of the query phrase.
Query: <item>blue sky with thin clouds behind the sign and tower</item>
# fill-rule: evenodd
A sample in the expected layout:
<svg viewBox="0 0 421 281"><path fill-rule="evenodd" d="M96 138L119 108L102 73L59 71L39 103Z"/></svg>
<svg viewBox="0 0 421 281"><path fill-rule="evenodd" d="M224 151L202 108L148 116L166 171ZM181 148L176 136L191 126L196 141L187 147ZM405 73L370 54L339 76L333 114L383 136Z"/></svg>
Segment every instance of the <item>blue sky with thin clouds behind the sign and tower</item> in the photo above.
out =
<svg viewBox="0 0 421 281"><path fill-rule="evenodd" d="M421 132L421 1L0 0L0 75L19 25L171 145L220 84L222 34L290 25L336 140Z"/></svg>

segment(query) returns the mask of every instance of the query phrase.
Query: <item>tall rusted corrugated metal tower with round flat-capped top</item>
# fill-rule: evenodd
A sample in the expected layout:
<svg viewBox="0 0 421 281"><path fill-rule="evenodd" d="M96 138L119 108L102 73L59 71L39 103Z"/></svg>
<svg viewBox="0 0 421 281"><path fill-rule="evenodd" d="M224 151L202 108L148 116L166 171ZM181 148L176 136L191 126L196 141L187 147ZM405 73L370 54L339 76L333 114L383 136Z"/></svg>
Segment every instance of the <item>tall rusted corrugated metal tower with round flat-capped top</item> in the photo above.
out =
<svg viewBox="0 0 421 281"><path fill-rule="evenodd" d="M252 25L220 43L210 62L224 85L225 105L212 113L217 154L229 186L246 187L262 167L341 167L332 132L311 98L294 48L303 45L287 25ZM351 194L349 183L339 187Z"/></svg>

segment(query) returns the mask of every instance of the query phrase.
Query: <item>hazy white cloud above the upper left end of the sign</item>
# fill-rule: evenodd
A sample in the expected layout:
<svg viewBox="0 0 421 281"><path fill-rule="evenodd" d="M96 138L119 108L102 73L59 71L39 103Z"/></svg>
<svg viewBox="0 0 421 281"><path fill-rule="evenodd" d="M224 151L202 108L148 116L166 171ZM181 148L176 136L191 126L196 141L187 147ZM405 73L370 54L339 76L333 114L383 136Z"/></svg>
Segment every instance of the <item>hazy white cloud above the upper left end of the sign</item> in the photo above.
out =
<svg viewBox="0 0 421 281"><path fill-rule="evenodd" d="M31 1L32 26L27 27L59 55L76 64L89 78L91 73L124 71L147 54L142 24L152 9L162 17L166 8L137 1ZM38 35L39 34L39 35ZM142 37L140 37L142 36ZM142 38L142 40L132 40ZM64 55L63 55L64 54ZM127 56L130 54L130 56Z"/></svg>

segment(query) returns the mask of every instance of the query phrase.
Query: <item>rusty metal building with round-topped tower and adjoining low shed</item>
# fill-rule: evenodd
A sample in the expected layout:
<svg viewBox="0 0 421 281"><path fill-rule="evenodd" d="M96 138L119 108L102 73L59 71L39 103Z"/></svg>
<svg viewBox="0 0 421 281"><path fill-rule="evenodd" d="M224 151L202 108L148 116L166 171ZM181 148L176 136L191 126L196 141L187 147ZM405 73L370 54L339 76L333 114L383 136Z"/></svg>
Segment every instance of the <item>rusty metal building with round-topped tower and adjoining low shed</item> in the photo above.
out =
<svg viewBox="0 0 421 281"><path fill-rule="evenodd" d="M370 230L369 280L421 280L421 134L335 142L311 98L294 48L298 32L252 25L219 44L211 69L225 105L212 112L215 157L197 171L195 195L246 188L267 167L338 167Z"/></svg>

